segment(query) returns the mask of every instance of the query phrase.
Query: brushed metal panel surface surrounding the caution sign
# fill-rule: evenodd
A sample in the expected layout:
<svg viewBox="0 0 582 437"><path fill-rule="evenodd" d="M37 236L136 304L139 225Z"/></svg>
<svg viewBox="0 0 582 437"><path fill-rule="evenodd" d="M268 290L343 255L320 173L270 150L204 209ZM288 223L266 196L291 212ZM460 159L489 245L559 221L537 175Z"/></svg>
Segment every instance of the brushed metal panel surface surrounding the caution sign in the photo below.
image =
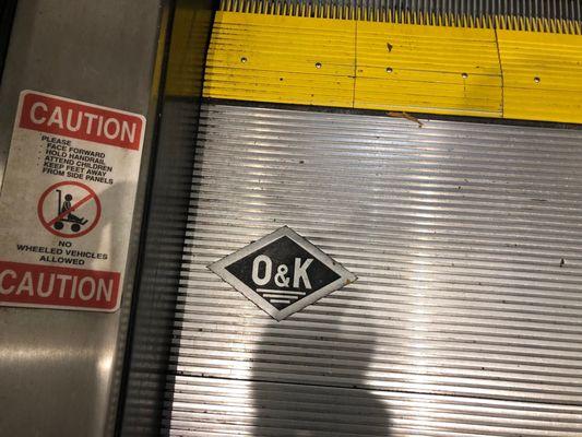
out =
<svg viewBox="0 0 582 437"><path fill-rule="evenodd" d="M17 2L0 86L0 180L22 90L149 117L142 154L147 163L165 3ZM0 436L112 435L146 176L145 164L119 311L0 308Z"/></svg>

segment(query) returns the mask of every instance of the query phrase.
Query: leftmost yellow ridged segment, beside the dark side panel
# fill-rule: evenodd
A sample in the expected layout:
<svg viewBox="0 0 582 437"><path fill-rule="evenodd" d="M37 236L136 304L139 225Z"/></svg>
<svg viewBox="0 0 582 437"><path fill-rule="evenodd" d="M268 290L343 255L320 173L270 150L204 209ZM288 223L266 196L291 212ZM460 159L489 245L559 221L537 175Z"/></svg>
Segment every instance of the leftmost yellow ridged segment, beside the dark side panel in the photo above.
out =
<svg viewBox="0 0 582 437"><path fill-rule="evenodd" d="M354 106L356 22L218 12L204 95Z"/></svg>

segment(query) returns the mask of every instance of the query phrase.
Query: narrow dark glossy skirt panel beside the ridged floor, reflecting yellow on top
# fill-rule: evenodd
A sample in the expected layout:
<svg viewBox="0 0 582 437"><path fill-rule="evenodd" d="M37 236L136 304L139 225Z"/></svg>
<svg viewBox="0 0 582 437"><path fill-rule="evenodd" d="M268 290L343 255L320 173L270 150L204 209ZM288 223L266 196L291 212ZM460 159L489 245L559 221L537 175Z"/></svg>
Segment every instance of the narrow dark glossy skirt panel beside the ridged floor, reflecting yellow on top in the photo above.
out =
<svg viewBox="0 0 582 437"><path fill-rule="evenodd" d="M143 260L126 356L119 436L159 436L174 311L178 294L190 182L212 28L212 0L178 0L166 82Z"/></svg>

